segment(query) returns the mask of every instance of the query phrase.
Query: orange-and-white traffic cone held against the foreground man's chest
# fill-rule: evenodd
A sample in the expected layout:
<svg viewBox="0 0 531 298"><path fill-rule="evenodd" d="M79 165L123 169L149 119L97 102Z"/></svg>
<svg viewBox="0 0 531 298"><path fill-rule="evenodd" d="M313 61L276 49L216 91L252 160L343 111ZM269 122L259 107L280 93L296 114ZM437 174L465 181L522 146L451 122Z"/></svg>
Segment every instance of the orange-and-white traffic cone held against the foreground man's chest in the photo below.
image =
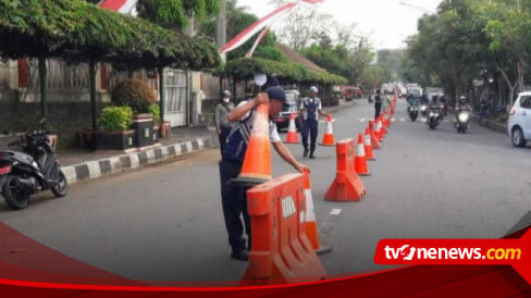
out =
<svg viewBox="0 0 531 298"><path fill-rule="evenodd" d="M271 179L271 147L269 139L268 104L260 104L256 110L252 132L245 152L244 164L233 183L255 186Z"/></svg>

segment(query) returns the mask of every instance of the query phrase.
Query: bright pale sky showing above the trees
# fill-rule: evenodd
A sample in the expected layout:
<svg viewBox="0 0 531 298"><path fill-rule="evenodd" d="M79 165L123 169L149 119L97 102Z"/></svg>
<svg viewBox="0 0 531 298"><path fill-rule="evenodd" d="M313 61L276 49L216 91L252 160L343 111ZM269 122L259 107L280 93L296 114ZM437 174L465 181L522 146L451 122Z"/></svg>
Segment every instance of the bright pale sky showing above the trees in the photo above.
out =
<svg viewBox="0 0 531 298"><path fill-rule="evenodd" d="M317 9L343 25L356 23L375 49L406 48L404 40L417 33L417 20L436 11L442 0L324 0ZM262 17L274 9L268 0L238 0L239 7ZM273 26L273 30L279 29Z"/></svg>

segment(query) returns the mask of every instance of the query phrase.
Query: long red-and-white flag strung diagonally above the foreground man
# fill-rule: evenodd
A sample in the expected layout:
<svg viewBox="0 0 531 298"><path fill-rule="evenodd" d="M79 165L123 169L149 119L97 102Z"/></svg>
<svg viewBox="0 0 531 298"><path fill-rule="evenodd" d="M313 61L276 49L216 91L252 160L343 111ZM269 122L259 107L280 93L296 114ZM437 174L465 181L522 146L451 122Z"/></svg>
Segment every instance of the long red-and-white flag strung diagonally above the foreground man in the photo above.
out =
<svg viewBox="0 0 531 298"><path fill-rule="evenodd" d="M255 36L257 33L262 30L263 28L267 28L257 39L257 42L252 46L252 49L247 52L246 57L252 55L252 52L255 48L258 46L258 44L266 36L267 32L273 25L273 23L287 14L289 14L297 5L313 5L317 3L321 3L323 0L299 0L295 3L288 3L285 4L276 10L274 10L272 13L266 15L264 17L258 20L257 22L252 23L249 27L244 29L242 33L239 33L236 37L234 37L231 41L225 44L223 47L220 49L220 53L227 53L239 46L244 45L247 40L249 40L252 36Z"/></svg>

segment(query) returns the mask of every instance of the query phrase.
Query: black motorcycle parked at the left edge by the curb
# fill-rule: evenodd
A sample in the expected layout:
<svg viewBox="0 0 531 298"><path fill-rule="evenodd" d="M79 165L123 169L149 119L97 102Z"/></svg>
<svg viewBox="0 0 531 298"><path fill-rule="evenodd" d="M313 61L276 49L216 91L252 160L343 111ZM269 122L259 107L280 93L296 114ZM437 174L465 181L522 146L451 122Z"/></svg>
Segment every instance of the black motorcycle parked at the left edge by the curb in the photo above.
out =
<svg viewBox="0 0 531 298"><path fill-rule="evenodd" d="M41 125L45 126L44 121ZM26 208L30 195L47 189L57 197L66 196L69 184L45 129L26 134L8 146L22 148L22 152L0 151L0 189L10 209Z"/></svg>

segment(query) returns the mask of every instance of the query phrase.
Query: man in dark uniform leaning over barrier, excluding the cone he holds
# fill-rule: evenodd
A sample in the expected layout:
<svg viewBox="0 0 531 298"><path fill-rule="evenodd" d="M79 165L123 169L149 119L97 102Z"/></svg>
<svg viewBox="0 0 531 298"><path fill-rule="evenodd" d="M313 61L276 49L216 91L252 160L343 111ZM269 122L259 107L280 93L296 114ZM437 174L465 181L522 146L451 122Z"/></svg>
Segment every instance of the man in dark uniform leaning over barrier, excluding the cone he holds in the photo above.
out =
<svg viewBox="0 0 531 298"><path fill-rule="evenodd" d="M295 160L282 142L276 125L271 121L271 117L279 114L282 107L287 104L286 101L286 94L281 87L269 87L266 92L257 95L256 98L240 102L227 115L229 121L236 124L229 135L220 161L221 200L229 244L232 247L231 257L236 260L245 261L248 259L243 235L245 225L250 247L250 219L247 213L247 188L231 183L231 179L236 178L242 171L258 104L268 104L269 107L269 137L276 152L298 172L304 173L305 170L309 170L308 166ZM244 223L242 223L240 215L243 215Z"/></svg>

